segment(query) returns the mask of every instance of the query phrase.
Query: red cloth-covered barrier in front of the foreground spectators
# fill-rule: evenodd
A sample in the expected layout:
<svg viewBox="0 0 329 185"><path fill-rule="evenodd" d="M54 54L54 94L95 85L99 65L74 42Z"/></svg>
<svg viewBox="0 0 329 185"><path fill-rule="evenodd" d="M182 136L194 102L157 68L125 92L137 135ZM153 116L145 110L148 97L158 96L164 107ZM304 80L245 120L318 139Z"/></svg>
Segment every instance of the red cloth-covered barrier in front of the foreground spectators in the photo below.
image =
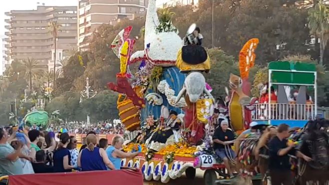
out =
<svg viewBox="0 0 329 185"><path fill-rule="evenodd" d="M143 185L140 171L114 170L9 176L9 185Z"/></svg>

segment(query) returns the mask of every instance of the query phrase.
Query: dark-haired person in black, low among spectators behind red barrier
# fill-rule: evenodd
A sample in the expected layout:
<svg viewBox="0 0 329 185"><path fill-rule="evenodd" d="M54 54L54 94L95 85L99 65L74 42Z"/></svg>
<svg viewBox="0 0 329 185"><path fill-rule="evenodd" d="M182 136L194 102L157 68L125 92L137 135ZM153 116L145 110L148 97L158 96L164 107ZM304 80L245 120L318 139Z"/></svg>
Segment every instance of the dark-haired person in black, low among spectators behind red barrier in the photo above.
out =
<svg viewBox="0 0 329 185"><path fill-rule="evenodd" d="M39 150L35 154L35 163L32 163L33 171L35 174L39 173L53 173L53 166L48 166L45 164L46 154L43 150Z"/></svg>

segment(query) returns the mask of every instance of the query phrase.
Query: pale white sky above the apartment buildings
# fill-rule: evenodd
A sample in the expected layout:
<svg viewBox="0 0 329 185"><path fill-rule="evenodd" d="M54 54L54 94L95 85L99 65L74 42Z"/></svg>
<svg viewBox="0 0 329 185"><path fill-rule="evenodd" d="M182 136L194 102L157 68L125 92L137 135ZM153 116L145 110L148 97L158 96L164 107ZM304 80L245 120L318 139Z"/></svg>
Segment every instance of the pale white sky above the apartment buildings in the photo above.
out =
<svg viewBox="0 0 329 185"><path fill-rule="evenodd" d="M7 16L4 14L10 10L24 10L24 9L36 9L38 5L44 3L46 6L73 6L77 5L79 0L0 0L0 75L2 75L2 38L4 38L4 32L7 31L4 28L6 23L4 19ZM157 4L162 4L167 0L156 0Z"/></svg>

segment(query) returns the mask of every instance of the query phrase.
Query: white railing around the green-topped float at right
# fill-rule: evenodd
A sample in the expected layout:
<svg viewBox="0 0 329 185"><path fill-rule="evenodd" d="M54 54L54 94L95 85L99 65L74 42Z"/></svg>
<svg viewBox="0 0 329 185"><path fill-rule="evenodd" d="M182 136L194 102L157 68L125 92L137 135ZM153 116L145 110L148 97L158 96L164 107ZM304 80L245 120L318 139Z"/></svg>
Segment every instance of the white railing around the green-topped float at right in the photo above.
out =
<svg viewBox="0 0 329 185"><path fill-rule="evenodd" d="M314 104L254 104L253 120L309 120L315 119Z"/></svg>

